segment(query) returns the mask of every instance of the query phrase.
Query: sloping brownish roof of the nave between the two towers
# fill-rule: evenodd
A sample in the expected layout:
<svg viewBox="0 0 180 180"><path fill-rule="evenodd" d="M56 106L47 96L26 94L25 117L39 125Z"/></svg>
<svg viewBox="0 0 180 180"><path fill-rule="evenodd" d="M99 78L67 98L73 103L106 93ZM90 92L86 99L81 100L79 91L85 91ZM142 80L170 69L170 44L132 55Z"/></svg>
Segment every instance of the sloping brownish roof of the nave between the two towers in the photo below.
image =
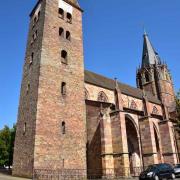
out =
<svg viewBox="0 0 180 180"><path fill-rule="evenodd" d="M115 89L115 81L113 79L109 79L107 77L93 73L88 70L85 70L85 82L92 85L100 86L109 90ZM136 97L138 99L143 99L143 91L141 89L131 87L121 82L118 82L118 84L123 94ZM149 92L146 92L146 95L150 102L155 103L155 104L161 104L160 100L158 100L155 96L153 96Z"/></svg>

